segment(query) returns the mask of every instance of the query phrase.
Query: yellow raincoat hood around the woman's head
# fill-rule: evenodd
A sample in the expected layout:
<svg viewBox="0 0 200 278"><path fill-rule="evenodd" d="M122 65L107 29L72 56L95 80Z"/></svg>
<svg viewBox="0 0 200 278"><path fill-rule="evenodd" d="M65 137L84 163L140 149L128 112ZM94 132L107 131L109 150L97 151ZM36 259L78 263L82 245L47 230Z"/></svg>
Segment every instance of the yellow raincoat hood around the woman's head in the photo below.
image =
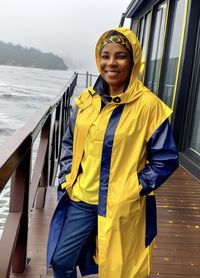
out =
<svg viewBox="0 0 200 278"><path fill-rule="evenodd" d="M102 42L105 40L107 34L110 31L117 31L117 32L123 34L132 46L132 55L133 55L132 59L134 62L134 66L133 66L133 69L131 72L129 85L125 91L125 93L129 92L129 94L130 94L130 91L132 92L133 95L131 94L131 96L129 96L129 101L130 101L132 98L136 98L137 96L140 95L140 89L138 88L136 83L139 82L138 75L140 72L141 57L142 57L141 46L140 46L140 43L139 43L136 35L128 28L115 28L115 29L108 30L100 37L100 39L98 40L97 45L96 45L96 63L97 63L97 67L98 67L98 70L100 73L101 73L101 70L100 70L101 45L102 45ZM129 102L129 101L127 101L127 99L126 99L125 102Z"/></svg>

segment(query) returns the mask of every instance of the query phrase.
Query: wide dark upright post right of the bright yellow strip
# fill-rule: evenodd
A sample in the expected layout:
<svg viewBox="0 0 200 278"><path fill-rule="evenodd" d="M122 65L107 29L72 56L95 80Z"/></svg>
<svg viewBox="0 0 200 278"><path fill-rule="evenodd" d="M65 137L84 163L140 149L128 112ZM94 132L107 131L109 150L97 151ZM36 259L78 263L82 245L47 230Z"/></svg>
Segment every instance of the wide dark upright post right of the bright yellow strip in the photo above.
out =
<svg viewBox="0 0 200 278"><path fill-rule="evenodd" d="M196 52L196 34L198 32L199 12L200 5L198 0L190 0L174 103L175 109L171 122L178 149L181 152L184 152L187 148L188 127L186 123L188 123L188 117L191 116L188 103L193 95L189 92L193 81L192 72L194 67L194 55ZM193 32L191 32L191 30Z"/></svg>

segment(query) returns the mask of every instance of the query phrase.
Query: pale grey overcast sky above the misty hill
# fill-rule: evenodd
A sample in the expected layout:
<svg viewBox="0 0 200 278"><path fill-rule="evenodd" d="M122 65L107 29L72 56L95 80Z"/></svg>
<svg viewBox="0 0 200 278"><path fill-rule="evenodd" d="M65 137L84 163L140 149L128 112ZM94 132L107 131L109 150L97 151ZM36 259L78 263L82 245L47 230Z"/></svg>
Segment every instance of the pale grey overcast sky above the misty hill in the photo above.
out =
<svg viewBox="0 0 200 278"><path fill-rule="evenodd" d="M131 0L0 0L0 40L69 57L95 72L99 36L117 27Z"/></svg>

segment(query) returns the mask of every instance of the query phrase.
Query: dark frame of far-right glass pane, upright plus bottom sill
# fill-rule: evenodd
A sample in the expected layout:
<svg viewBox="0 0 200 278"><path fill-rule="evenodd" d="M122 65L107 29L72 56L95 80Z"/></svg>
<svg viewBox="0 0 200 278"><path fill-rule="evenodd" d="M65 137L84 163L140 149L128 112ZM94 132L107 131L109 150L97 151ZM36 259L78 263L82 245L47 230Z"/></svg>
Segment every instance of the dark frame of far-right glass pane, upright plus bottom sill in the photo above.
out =
<svg viewBox="0 0 200 278"><path fill-rule="evenodd" d="M200 5L198 0L190 0L181 68L179 71L179 80L175 99L176 109L174 110L172 127L178 149L180 151L180 163L194 176L200 179L199 156L189 149L189 136L191 136L191 132L188 129L190 127L189 124L192 122L193 115L191 113L191 109L192 105L194 105L196 97L193 90L195 89L195 86L197 86L197 80L195 81L194 78L195 76L197 77L198 74L198 72L195 71L195 69L197 70L197 68L195 68L195 65L197 67L195 55L198 55L196 53L199 51L197 49L197 34L200 36L199 14ZM196 63L194 63L195 61Z"/></svg>

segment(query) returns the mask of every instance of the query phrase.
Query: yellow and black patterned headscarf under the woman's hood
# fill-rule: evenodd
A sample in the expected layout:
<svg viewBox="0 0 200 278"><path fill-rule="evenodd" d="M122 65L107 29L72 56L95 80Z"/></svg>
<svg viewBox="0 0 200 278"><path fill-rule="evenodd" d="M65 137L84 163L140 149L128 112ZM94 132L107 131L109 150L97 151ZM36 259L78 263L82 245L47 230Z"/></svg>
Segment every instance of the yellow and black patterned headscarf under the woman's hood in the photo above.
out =
<svg viewBox="0 0 200 278"><path fill-rule="evenodd" d="M122 46L126 47L126 49L130 53L132 52L132 47L131 47L130 42L127 40L127 38L123 34L117 32L117 31L110 31L108 33L108 35L106 36L106 38L102 42L101 51L104 48L104 46L109 44L109 43L121 44Z"/></svg>

